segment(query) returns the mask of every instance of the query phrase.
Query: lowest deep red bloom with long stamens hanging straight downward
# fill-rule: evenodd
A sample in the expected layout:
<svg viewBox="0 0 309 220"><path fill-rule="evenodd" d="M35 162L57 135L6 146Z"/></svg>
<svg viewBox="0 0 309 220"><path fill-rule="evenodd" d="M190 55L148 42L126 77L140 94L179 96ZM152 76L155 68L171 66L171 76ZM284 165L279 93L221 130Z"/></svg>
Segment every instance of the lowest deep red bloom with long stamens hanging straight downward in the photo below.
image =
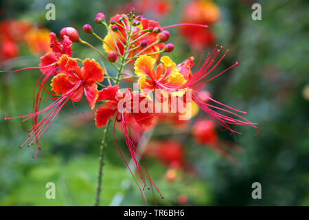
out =
<svg viewBox="0 0 309 220"><path fill-rule="evenodd" d="M139 164L137 157L141 157L137 147L135 146L135 143L130 138L130 124L133 122L137 122L140 126L150 126L153 119L152 113L141 113L141 111L135 111L134 108L136 104L139 104L145 100L146 97L142 96L141 94L133 94L132 90L130 88L124 89L124 91L119 91L119 87L117 85L114 86L108 86L104 89L102 89L99 92L98 101L107 101L105 107L100 107L95 112L95 125L98 126L98 128L101 128L102 126L105 126L108 120L113 116L116 115L115 122L114 122L114 138L117 145L117 148L119 150L120 155L122 156L122 159L124 159L122 152L120 151L120 148L118 146L116 137L115 137L115 123L120 122L122 133L124 135L124 139L126 140L126 145L128 146L128 150L130 151L131 158L133 160L135 171L137 173L137 179L135 179L133 172L130 170L126 160L124 159L124 162L128 166L128 169L130 170L131 175L133 175L133 178L135 179L135 182L137 186L139 187L139 190L141 191L141 195L144 196L144 199L146 200L145 194L144 194L144 187L147 186L146 180L150 182L150 186L152 188L155 187L156 190L159 192L159 189L154 184L152 179L150 178L150 175L148 173L146 164L144 163L144 160L141 158L141 161L143 162L144 166L141 166ZM148 102L149 103L149 102ZM128 118L133 119L133 121L128 121ZM153 190L152 190L153 192ZM161 193L159 192L161 195ZM154 195L155 196L155 195ZM161 196L162 197L162 196Z"/></svg>

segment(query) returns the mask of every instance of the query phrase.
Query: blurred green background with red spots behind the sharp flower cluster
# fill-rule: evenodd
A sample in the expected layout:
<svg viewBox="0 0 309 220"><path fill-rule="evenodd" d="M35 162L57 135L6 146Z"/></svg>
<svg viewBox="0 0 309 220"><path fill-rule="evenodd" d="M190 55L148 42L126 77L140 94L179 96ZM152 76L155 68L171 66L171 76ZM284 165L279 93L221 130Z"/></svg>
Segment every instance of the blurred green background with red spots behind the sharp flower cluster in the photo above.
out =
<svg viewBox="0 0 309 220"><path fill-rule="evenodd" d="M89 23L95 32L104 36L104 28L93 22L98 12L104 12L109 18L128 12L135 5L146 17L165 26L185 21L190 9L186 5L192 3L189 0L150 2L155 2L155 6L149 7L147 1L119 0L1 1L0 17L1 23L23 20L35 30L47 29L56 34L61 28L71 26L80 32L82 39L102 49L98 41L82 32L82 25ZM216 21L205 21L209 22L211 32L211 35L202 34L206 39L201 34L187 39L179 28L170 29L169 42L175 45L170 56L176 63L192 55L198 58L201 50L209 52L216 43L229 48L217 72L235 61L240 65L211 81L207 90L216 100L247 111L247 118L258 122L260 134L254 137L252 128L239 128L244 132L236 142L241 151L229 151L238 160L236 165L216 153L213 146L198 144L191 131L184 133L175 126L165 125L148 131L143 136L145 143L164 143L171 139L180 142L186 164L174 168L158 156L144 156L150 175L164 196L162 200L157 195L160 206L309 205L309 2L258 1L262 5L262 20L253 21L251 5L255 2L214 1L220 16ZM56 5L56 21L45 19L47 3ZM196 14L201 13L198 9L201 7L194 9ZM16 30L3 28L1 34L12 31ZM1 69L38 65L42 54L32 48L38 41L32 43L31 36L25 39L17 43L18 53L13 50L10 55L9 51L9 56L1 58ZM0 43L3 48L4 40ZM73 44L73 54L98 59L95 52L76 44ZM108 65L107 68L113 71ZM33 89L39 75L38 70L27 70L0 76L0 205L92 206L102 130L95 127L87 103L76 104L78 115L71 115L66 109L60 112L43 135L43 149L35 158L32 158L35 146L19 148L27 138L30 124L4 120L32 111ZM225 147L235 146L229 133L219 130L216 133ZM126 152L121 133L116 131L116 135ZM176 153L179 151L172 154ZM128 159L126 153L125 157ZM56 184L56 199L45 198L45 184L51 181ZM262 184L262 199L251 197L251 184L256 181ZM117 151L113 133L108 138L101 204L155 204L151 192L148 203L139 194Z"/></svg>

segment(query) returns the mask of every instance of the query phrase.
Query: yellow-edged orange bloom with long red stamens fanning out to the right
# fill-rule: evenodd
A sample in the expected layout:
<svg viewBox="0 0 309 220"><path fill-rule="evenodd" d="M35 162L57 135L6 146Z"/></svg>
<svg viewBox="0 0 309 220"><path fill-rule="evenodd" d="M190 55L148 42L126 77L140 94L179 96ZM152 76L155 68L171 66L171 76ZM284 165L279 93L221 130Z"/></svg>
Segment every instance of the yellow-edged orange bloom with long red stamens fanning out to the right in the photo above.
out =
<svg viewBox="0 0 309 220"><path fill-rule="evenodd" d="M208 83L210 80L213 80L214 78L227 72L227 70L231 69L232 67L238 65L238 62L236 62L231 67L225 69L225 71L217 74L212 78L209 78L208 80L205 80L205 77L209 76L209 74L214 71L220 61L222 61L222 59L227 54L226 52L219 59L219 61L214 64L214 61L216 60L216 57L218 56L221 49L222 47L220 47L219 49L218 46L215 47L214 51L211 54L208 54L202 67L200 69L196 69L194 74L191 72L191 68L193 66L192 57L187 59L180 65L176 66L174 62L172 62L170 58L168 58L168 56L163 56L161 58L161 62L163 64L158 65L157 69L155 70L153 67L155 65L155 61L153 61L148 56L141 56L135 62L135 74L140 77L139 88L141 89L141 91L143 91L143 89L152 90L155 88L165 89L165 91L174 91L174 89L176 89L176 96L185 96L185 102L187 102L186 100L189 100L189 102L190 100L195 102L198 107L200 107L203 111L205 111L205 113L207 113L207 115L214 119L214 121L216 122L216 124L218 124L220 128L231 131L235 138L236 133L242 133L233 129L231 127L232 125L249 125L258 130L256 123L249 122L249 120L243 118L241 115L238 115L238 113L246 112L234 109L227 106L226 104L222 104L214 100L210 96L207 96L207 93L198 91L198 89L196 89L198 87L201 87L201 85ZM200 66L200 64L201 60L198 63L198 67ZM163 69L165 68L170 69L166 69L165 71L163 71ZM187 80L185 80L185 78L187 78ZM190 91L190 93L188 91ZM175 92L173 93L175 94ZM213 102L215 104L218 104L219 106L216 106L209 102ZM224 107L227 109L224 109ZM227 113L227 115L219 113L215 110Z"/></svg>

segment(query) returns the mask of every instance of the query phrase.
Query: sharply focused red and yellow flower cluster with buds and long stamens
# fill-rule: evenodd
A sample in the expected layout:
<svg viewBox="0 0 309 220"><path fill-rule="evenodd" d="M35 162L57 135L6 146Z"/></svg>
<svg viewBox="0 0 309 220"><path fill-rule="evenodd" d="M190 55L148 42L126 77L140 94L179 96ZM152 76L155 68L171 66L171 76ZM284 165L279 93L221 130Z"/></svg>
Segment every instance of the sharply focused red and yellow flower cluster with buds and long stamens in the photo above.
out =
<svg viewBox="0 0 309 220"><path fill-rule="evenodd" d="M41 57L38 67L25 68L39 69L41 76L36 81L33 112L14 117L20 118L21 122L32 120L30 135L21 147L36 143L37 148L41 149L39 138L55 120L60 110L67 107L68 102L80 102L84 96L90 109L95 109L95 125L98 128L104 127L103 148L106 146L108 136L106 133L111 122L114 124L114 137L115 126L119 125L134 165L133 168L128 166L128 169L132 175L133 170L135 171L136 175L133 177L141 195L146 199L144 193L146 186L150 184L150 188L155 188L158 192L159 189L150 178L144 160L141 159L137 142L140 133L155 126L154 124L160 120L169 118L173 123L181 124L182 121L194 118L198 109L201 109L212 120L195 124L194 136L198 142L214 146L218 142L218 136L214 131L215 124L220 129L228 130L234 137L240 134L236 131L237 125L249 125L258 129L255 123L240 115L245 113L244 111L214 100L207 91L201 89L205 83L238 65L236 62L225 71L211 75L227 53L218 57L222 47L216 46L206 58L203 58L202 54L198 65L194 68L193 57L176 64L169 56L162 55L173 51L174 45L166 43L170 37L166 29L177 25L161 27L157 21L141 17L134 11L117 14L109 21L106 21L105 15L100 12L94 21L106 28L106 36L95 34L89 24L84 25L83 30L98 39L104 52L101 52L102 48L98 49L82 40L76 29L67 27L61 30L60 39L57 39L53 32L49 34L49 51ZM183 25L196 26L193 23ZM203 27L201 24L197 25ZM39 41L38 39L32 40ZM117 75L108 73L103 61L98 63L91 58L82 60L72 56L72 43L80 43L98 52L106 63L115 67ZM133 73L125 71L127 65L133 65ZM21 70L23 69L10 72ZM137 88L119 85L122 80L128 78L137 80ZM49 82L52 91L47 88ZM45 97L46 94L50 97ZM51 103L47 107L41 107L42 98L51 100ZM135 132L132 132L132 129ZM115 144L122 155L116 137ZM181 145L175 142L161 145L149 150L148 153L161 155L161 161L167 164L174 166L185 164ZM171 151L168 146L173 146Z"/></svg>

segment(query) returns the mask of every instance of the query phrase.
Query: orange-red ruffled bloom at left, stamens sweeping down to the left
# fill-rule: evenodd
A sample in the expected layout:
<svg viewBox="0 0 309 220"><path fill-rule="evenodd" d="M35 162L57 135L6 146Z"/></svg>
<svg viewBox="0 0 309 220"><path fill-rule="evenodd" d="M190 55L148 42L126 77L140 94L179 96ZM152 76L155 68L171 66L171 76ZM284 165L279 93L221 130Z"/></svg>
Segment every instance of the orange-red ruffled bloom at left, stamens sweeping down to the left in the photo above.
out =
<svg viewBox="0 0 309 220"><path fill-rule="evenodd" d="M58 61L60 71L56 76L54 76L54 78L52 78L51 84L52 90L56 95L44 89L48 94L54 96L54 98L51 99L55 101L52 102L52 104L49 104L48 107L45 107L45 109L35 111L29 115L14 117L21 118L23 119L21 122L24 122L25 120L29 120L45 113L43 118L28 130L30 135L20 147L25 145L27 142L30 142L28 146L34 144L34 142L37 142L38 138L41 137L47 127L56 118L60 109L62 109L62 107L64 107L69 100L78 102L84 94L91 109L95 107L95 102L99 93L95 83L102 82L104 79L104 70L98 63L94 60L90 60L89 58L84 60L82 64L83 67L80 68L74 58L70 58L67 55L62 55L60 57L60 61ZM40 83L38 84L43 87Z"/></svg>

